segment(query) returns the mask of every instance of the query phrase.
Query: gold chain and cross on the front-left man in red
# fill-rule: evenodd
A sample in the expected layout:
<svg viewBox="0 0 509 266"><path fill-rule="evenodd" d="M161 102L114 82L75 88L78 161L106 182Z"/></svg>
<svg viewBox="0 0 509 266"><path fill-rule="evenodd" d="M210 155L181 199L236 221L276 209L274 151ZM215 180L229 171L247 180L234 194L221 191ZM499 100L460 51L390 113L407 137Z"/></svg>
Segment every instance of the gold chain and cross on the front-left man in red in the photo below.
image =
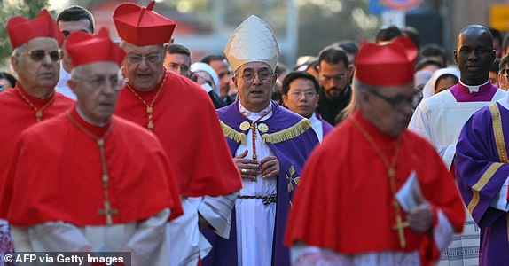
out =
<svg viewBox="0 0 509 266"><path fill-rule="evenodd" d="M111 130L113 129L114 121L113 120L110 121L108 129L106 129L106 132L103 135L103 137L98 137L94 133L90 132L89 129L84 128L78 121L75 121L73 116L71 115L71 113L67 113L67 117L69 118L70 121L73 122L74 126L76 126L78 129L82 130L82 132L84 132L85 134L92 137L98 145L99 153L101 155L101 167L102 167L102 171L103 171L103 176L102 176L103 194L105 197L105 201L104 201L105 208L99 209L98 213L99 213L99 215L106 215L106 224L112 225L112 224L114 224L112 215L118 215L119 211L118 211L118 209L112 208L111 204L110 204L110 196L109 196L109 192L108 192L109 176L108 176L108 169L107 169L107 165L106 165L105 139L110 134Z"/></svg>

